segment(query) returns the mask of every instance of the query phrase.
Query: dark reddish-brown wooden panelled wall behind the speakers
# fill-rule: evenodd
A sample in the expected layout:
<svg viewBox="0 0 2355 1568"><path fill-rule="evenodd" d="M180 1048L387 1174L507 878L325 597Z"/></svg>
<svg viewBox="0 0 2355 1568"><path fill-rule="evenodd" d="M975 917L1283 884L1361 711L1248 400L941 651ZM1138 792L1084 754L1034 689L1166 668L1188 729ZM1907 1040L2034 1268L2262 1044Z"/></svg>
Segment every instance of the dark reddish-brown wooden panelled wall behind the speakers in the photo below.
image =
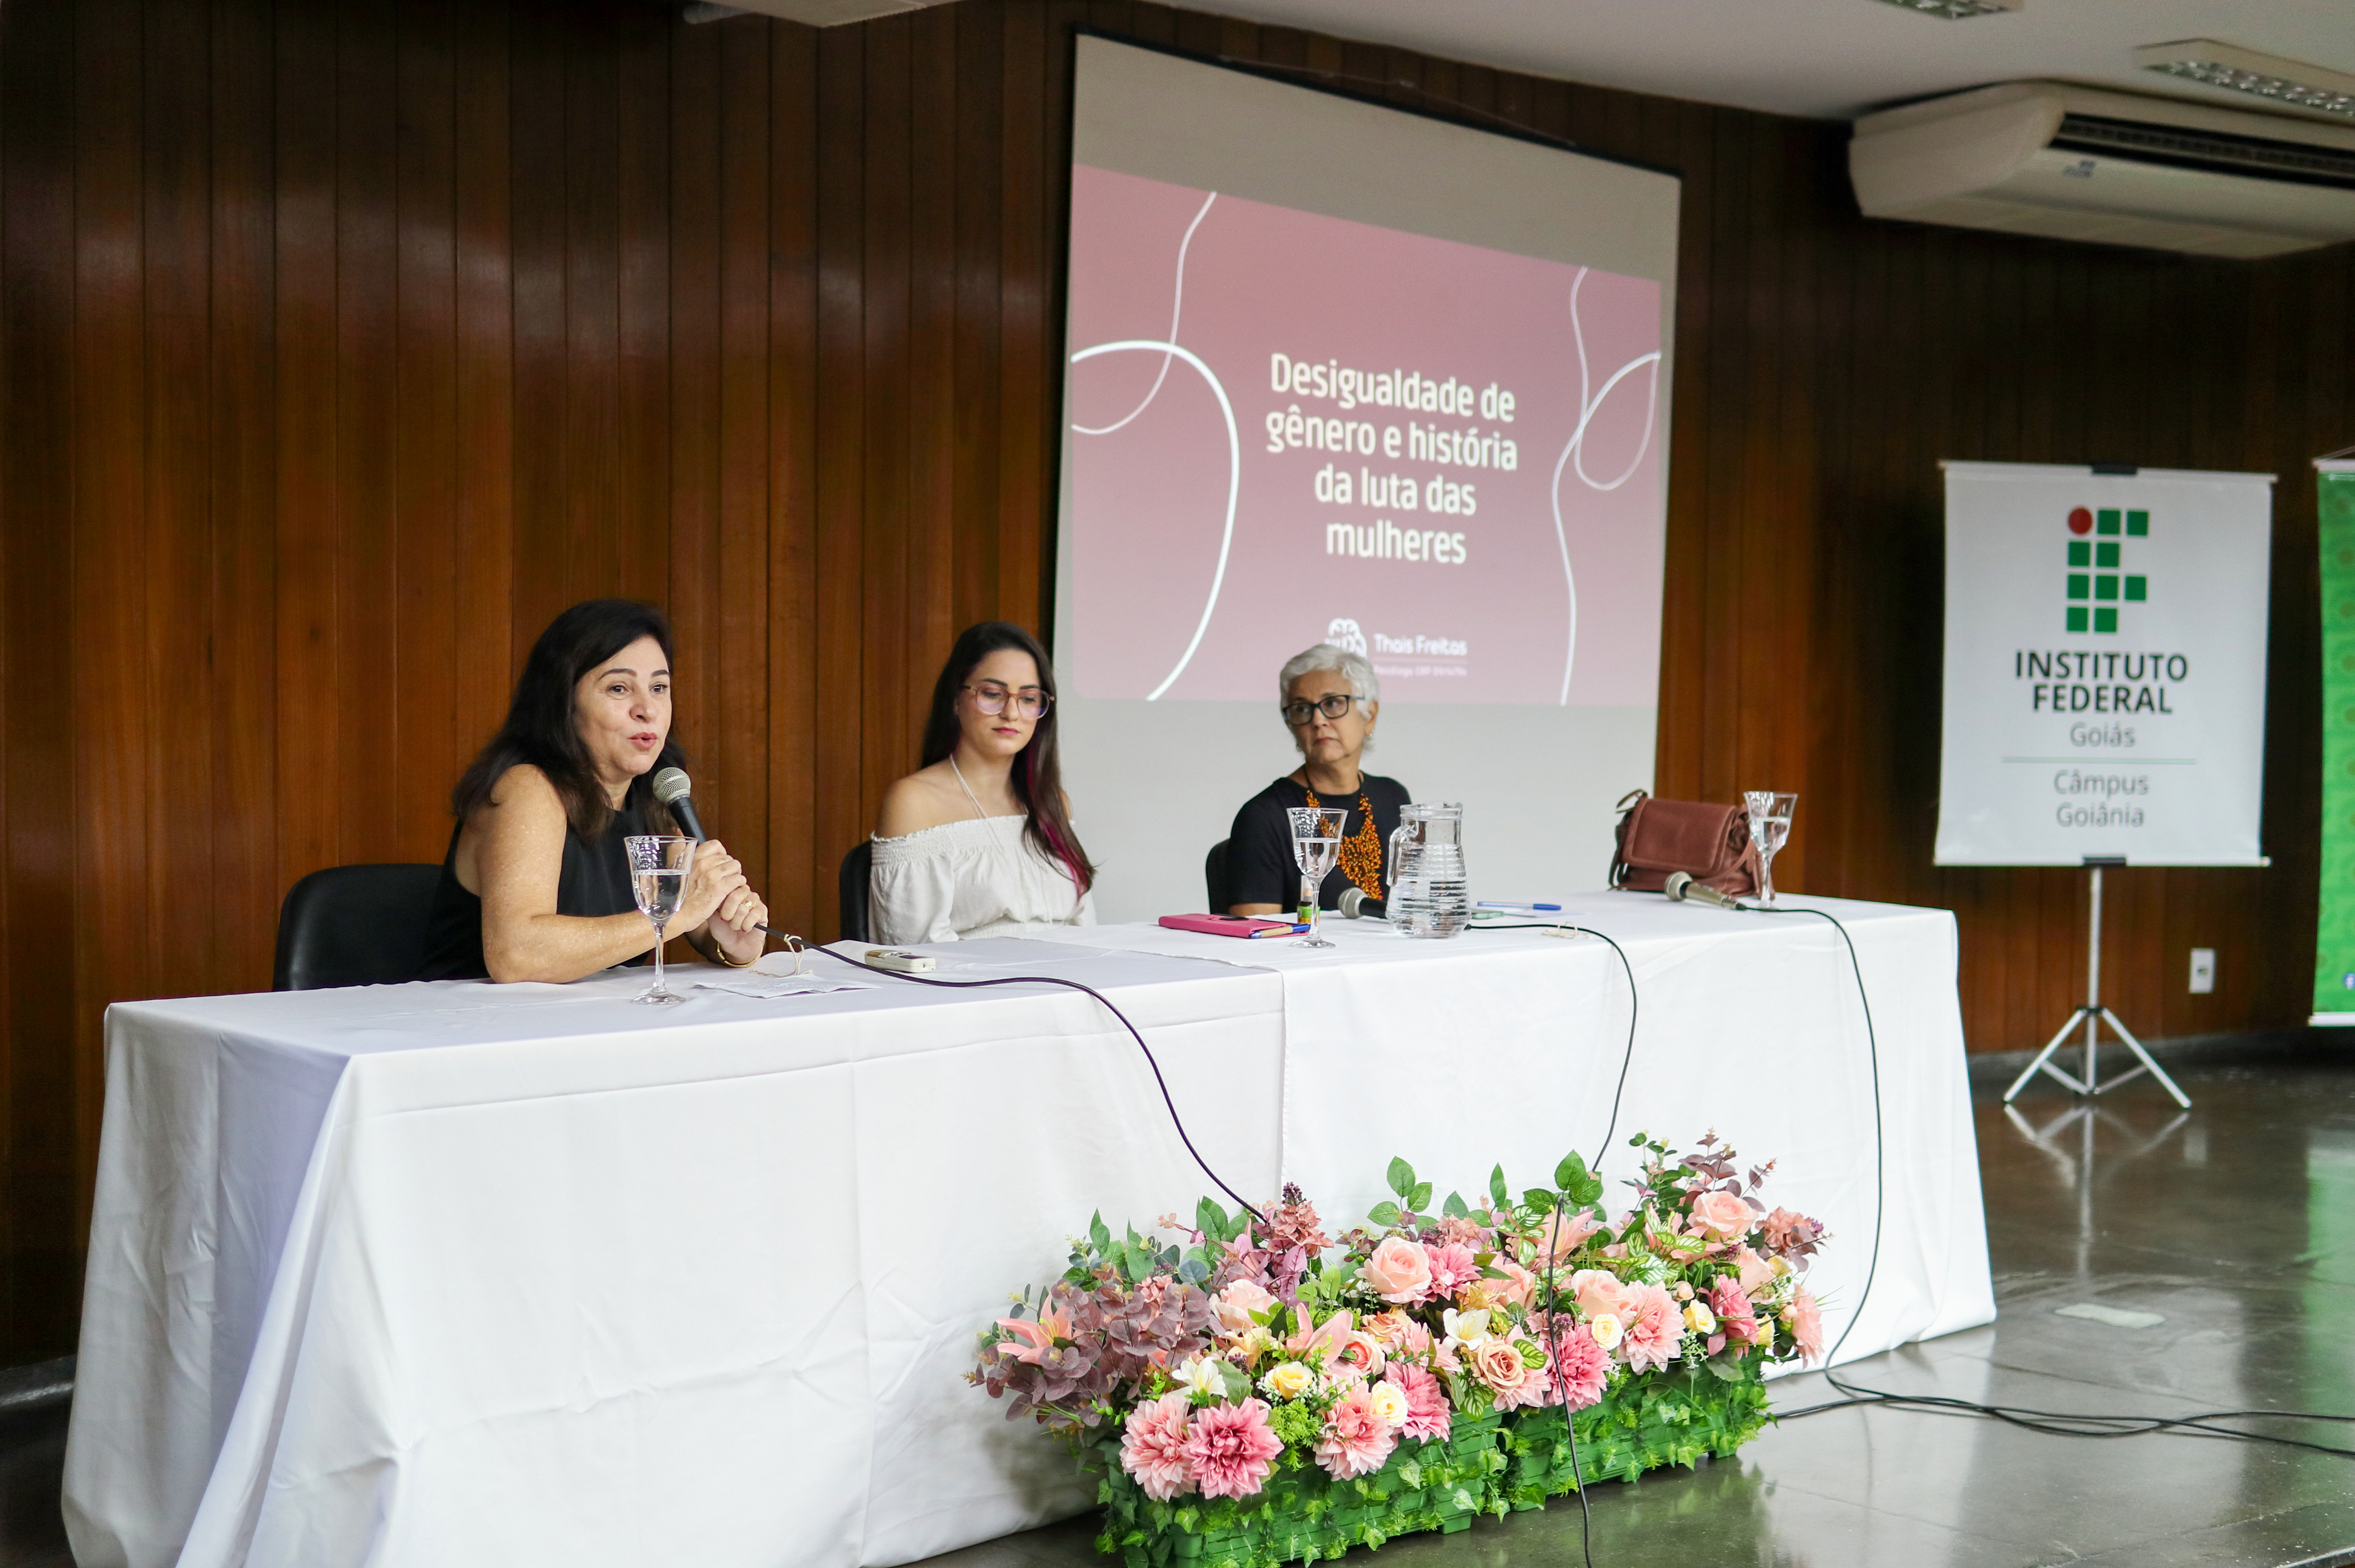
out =
<svg viewBox="0 0 2355 1568"><path fill-rule="evenodd" d="M1660 789L1799 789L1787 885L1952 906L1973 1048L2072 1001L2082 878L1929 864L1938 459L2280 473L2275 866L2117 876L2105 972L2152 1036L2303 1015L2346 247L1868 224L1837 125L1130 0L7 0L0 1356L71 1344L106 1003L436 859L565 603L674 612L709 817L831 935L949 636L1050 607L1074 26L1681 172Z"/></svg>

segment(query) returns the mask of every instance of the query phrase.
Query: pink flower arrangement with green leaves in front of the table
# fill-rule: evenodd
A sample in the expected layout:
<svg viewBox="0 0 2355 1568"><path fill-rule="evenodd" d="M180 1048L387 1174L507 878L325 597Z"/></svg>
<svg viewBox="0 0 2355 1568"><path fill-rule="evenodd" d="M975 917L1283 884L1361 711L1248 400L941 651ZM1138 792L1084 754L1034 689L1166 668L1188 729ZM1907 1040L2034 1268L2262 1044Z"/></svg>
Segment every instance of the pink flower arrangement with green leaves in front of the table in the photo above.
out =
<svg viewBox="0 0 2355 1568"><path fill-rule="evenodd" d="M1762 1375L1820 1358L1802 1274L1823 1227L1766 1205L1717 1135L1637 1135L1606 1220L1575 1154L1474 1208L1394 1158L1366 1224L1328 1236L1286 1187L1265 1215L1203 1198L1156 1241L1102 1215L1069 1269L984 1330L973 1382L1104 1471L1097 1542L1133 1563L1276 1563L1543 1507L1585 1474L1733 1453ZM1575 1431L1575 1450L1571 1434Z"/></svg>

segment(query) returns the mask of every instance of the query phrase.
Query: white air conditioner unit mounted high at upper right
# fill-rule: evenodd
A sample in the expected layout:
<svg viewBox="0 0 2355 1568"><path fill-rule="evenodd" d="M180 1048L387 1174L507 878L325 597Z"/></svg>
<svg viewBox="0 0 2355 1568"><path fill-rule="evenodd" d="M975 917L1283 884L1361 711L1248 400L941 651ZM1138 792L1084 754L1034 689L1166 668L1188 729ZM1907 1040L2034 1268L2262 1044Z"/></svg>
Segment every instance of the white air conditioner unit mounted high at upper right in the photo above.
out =
<svg viewBox="0 0 2355 1568"><path fill-rule="evenodd" d="M1865 217L2280 257L2355 238L2355 127L2072 82L2006 82L1856 122Z"/></svg>

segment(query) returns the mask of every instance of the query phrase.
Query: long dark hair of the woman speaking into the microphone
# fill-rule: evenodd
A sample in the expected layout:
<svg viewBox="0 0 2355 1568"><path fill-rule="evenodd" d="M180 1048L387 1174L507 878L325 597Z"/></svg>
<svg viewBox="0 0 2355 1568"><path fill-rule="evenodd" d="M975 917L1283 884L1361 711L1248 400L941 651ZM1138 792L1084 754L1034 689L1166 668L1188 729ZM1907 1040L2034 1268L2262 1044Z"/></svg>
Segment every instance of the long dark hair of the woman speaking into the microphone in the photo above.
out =
<svg viewBox="0 0 2355 1568"><path fill-rule="evenodd" d="M671 622L662 610L631 598L589 598L549 622L523 659L516 697L506 704L506 723L450 791L450 810L459 822L490 800L492 786L509 768L530 763L556 786L556 798L565 803L565 824L575 833L596 838L605 831L612 805L598 784L589 749L582 746L572 718L572 690L638 638L662 643L662 662L671 662ZM655 803L652 775L685 760L688 753L666 735L655 765L629 782L626 800L645 812L655 831L671 826L671 812Z"/></svg>

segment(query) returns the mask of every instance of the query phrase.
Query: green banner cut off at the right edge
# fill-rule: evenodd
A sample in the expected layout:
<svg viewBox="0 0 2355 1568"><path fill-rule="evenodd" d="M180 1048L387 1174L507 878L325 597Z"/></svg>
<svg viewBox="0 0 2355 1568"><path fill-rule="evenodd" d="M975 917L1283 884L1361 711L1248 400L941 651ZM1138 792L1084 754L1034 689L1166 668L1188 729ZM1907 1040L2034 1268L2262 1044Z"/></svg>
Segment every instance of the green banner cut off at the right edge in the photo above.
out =
<svg viewBox="0 0 2355 1568"><path fill-rule="evenodd" d="M2317 466L2322 520L2322 909L2315 1022L2355 1024L2355 464Z"/></svg>

